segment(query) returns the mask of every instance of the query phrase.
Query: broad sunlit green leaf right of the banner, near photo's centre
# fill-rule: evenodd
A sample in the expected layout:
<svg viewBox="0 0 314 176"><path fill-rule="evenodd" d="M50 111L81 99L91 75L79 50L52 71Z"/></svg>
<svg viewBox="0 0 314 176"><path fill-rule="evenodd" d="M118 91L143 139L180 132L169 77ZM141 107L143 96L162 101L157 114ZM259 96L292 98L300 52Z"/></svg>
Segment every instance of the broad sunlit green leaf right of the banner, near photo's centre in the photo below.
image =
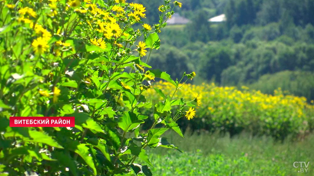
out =
<svg viewBox="0 0 314 176"><path fill-rule="evenodd" d="M127 132L139 127L141 123L144 123L144 121L139 119L136 114L133 112L125 112L122 117L119 117L118 125L123 131Z"/></svg>

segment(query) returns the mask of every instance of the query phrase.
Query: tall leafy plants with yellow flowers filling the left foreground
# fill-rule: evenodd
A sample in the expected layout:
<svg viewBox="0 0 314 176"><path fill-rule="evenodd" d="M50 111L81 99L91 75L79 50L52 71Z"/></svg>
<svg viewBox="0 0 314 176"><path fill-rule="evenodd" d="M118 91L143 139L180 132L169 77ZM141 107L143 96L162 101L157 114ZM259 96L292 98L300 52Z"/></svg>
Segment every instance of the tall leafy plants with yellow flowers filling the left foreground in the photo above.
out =
<svg viewBox="0 0 314 176"><path fill-rule="evenodd" d="M124 0L0 1L1 176L134 175L132 170L151 176L145 149L178 149L161 135L174 130L183 137L176 120L195 116L193 100L173 99L175 93L165 96L160 89L163 100L156 104L143 96L155 77L177 90L195 76L184 73L174 81L151 69L149 57L143 60L159 49L164 17L179 6L163 4L157 24L135 28L145 7ZM140 132L148 118L140 110L151 107L154 122ZM42 119L26 120L33 127L10 127L11 116ZM58 127L70 124L44 116L75 117L75 126Z"/></svg>

